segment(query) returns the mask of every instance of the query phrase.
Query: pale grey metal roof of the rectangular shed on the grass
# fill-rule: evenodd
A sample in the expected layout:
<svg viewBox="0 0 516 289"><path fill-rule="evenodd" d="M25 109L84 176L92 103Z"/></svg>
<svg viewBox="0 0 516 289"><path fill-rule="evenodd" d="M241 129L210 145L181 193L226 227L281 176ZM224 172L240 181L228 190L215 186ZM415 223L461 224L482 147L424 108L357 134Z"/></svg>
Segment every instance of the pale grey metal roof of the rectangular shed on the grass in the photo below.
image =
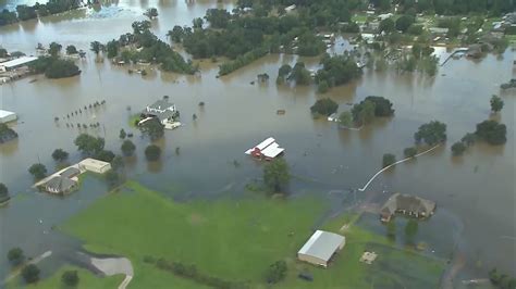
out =
<svg viewBox="0 0 516 289"><path fill-rule="evenodd" d="M344 236L317 230L297 253L311 255L328 262L344 241Z"/></svg>

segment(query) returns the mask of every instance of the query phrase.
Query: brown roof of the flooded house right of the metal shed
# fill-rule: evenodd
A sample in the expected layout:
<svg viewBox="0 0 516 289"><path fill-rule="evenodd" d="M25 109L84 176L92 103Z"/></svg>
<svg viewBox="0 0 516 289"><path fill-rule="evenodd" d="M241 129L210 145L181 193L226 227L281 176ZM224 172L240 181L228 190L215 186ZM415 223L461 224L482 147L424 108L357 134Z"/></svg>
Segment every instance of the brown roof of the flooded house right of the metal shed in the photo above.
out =
<svg viewBox="0 0 516 289"><path fill-rule="evenodd" d="M429 215L435 210L435 202L416 196L394 193L381 209L382 214L394 214L397 210Z"/></svg>

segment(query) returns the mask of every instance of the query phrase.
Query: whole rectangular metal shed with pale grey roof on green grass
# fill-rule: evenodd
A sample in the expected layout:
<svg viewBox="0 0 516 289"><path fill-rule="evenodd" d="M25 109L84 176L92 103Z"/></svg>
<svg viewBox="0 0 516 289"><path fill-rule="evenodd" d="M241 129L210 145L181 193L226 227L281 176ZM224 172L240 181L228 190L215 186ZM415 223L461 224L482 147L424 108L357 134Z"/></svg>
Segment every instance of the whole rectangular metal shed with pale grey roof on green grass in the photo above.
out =
<svg viewBox="0 0 516 289"><path fill-rule="evenodd" d="M339 234L317 230L297 252L297 259L328 267L328 262L335 252L342 250L346 243L346 238Z"/></svg>

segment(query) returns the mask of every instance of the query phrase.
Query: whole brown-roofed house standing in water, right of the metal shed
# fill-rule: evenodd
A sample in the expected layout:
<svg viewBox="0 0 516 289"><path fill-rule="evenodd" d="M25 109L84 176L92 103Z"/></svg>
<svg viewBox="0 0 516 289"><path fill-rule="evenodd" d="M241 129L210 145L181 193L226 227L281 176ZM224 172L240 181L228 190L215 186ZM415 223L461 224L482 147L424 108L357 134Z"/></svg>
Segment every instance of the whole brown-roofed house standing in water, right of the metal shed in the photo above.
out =
<svg viewBox="0 0 516 289"><path fill-rule="evenodd" d="M417 218L427 218L435 212L435 202L416 196L394 193L380 210L382 222L391 221L394 214L400 213Z"/></svg>

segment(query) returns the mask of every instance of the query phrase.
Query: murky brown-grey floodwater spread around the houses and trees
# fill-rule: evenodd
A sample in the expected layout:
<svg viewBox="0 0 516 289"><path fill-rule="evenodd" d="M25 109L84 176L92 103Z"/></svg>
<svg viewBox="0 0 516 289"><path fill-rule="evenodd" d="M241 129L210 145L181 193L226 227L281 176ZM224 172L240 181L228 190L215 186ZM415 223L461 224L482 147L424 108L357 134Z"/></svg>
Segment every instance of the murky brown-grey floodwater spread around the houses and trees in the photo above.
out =
<svg viewBox="0 0 516 289"><path fill-rule="evenodd" d="M152 29L164 38L173 25L189 25L206 9L231 10L233 3L111 1L100 11L83 9L1 27L0 42L9 50L28 54L35 52L37 42L50 41L87 50L90 41L107 41L130 32L131 23L143 20L142 13L149 7L159 10ZM330 52L341 53L346 47L344 41ZM336 198L333 192L361 188L381 168L384 153L403 158L403 149L414 143L417 128L438 120L447 124L446 146L379 176L366 192L356 192L357 199L381 204L389 192L400 191L434 200L437 215L420 226L418 238L426 240L437 255L450 257L454 251L464 254L465 276L482 277L493 266L515 275L516 93L502 93L499 89L501 83L515 77L514 58L515 52L508 49L501 58L488 55L477 62L451 60L435 77L366 71L360 79L327 93L340 103L340 111L370 95L386 97L394 103L393 118L378 120L360 131L340 130L325 120L312 120L309 106L320 98L315 87L275 85L279 66L293 65L298 60L294 55L268 55L216 78L217 64L209 60L200 63L200 76L152 70L142 77L130 75L127 66L112 66L108 61L97 63L95 55L88 53L86 60L78 62L83 71L78 77L49 80L39 75L1 86L1 108L19 114L19 123L13 127L20 138L0 146L0 181L9 186L14 197L11 204L0 209L0 255L13 246L23 247L32 255L56 247L56 242L77 247L76 241L59 236L56 230L49 233L38 219L59 225L89 202L78 200L94 200L106 188L97 180L88 180L90 187L64 199L33 193L27 168L39 160L53 171L50 154L56 148L71 152L71 162L79 160L73 144L79 133L105 137L107 149L115 152L122 142L119 130L134 133L137 158L127 165L127 173L177 200L217 198L226 192L239 194L246 184L261 177L261 164L244 151L273 136L286 148L284 158L295 176L291 191L319 194L331 201ZM317 59L303 61L309 68L318 65ZM271 76L269 84L250 84L265 72ZM165 138L158 142L164 149L163 161L148 165L143 152L149 140L130 127L128 117L165 95L181 111L184 126L165 131ZM492 95L501 95L505 101L501 114L493 117L507 125L506 144L478 143L463 158L452 158L451 144L474 131L477 123L492 117ZM84 111L84 105L101 100L107 101L106 105ZM200 101L206 103L204 108L198 106ZM81 108L83 113L78 116L63 118ZM279 109L286 110L286 114L277 115ZM193 121L193 114L198 116L197 121ZM54 122L56 116L61 120ZM66 123L97 122L99 128L66 127ZM235 166L234 161L239 165ZM342 206L347 208L355 200L343 198ZM369 221L365 223L372 229L383 229ZM44 237L46 234L56 236ZM4 262L0 257L0 277L5 274Z"/></svg>

